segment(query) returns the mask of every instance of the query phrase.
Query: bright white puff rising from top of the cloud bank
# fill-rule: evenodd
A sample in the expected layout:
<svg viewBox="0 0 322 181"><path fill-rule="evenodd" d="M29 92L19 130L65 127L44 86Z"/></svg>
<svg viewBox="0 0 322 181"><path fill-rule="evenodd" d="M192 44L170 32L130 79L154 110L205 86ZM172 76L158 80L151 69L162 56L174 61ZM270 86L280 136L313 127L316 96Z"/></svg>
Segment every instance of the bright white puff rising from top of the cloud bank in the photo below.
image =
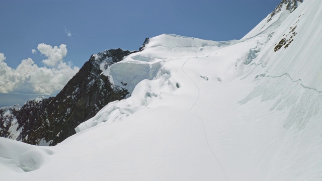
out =
<svg viewBox="0 0 322 181"><path fill-rule="evenodd" d="M59 48L57 46L52 47L41 43L37 46L39 52L47 57L42 62L49 67L57 66L62 63L63 57L67 55L67 48L65 44L61 44Z"/></svg>

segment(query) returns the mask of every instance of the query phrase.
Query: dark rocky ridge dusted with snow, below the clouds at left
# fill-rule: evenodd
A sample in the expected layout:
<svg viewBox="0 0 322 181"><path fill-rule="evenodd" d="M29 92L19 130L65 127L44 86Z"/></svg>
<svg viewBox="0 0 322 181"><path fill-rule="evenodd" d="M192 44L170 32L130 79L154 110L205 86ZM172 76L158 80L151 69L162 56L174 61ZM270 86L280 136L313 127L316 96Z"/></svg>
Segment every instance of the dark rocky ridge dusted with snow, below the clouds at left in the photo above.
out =
<svg viewBox="0 0 322 181"><path fill-rule="evenodd" d="M34 145L56 145L73 135L80 123L128 95L101 73L134 52L111 49L92 55L56 97L30 100L21 109L0 109L0 136ZM4 116L8 111L11 114Z"/></svg>

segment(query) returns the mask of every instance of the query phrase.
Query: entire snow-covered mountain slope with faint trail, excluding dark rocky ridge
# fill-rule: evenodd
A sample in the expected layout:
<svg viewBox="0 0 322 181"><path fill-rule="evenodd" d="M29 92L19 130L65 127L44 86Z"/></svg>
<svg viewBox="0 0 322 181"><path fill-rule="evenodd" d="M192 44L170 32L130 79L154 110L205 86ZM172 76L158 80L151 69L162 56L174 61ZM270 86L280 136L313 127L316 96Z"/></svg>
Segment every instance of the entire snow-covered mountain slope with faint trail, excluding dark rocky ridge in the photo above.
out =
<svg viewBox="0 0 322 181"><path fill-rule="evenodd" d="M1 177L320 180L322 1L284 2L241 40L146 39L102 73L131 97L53 147L0 138Z"/></svg>

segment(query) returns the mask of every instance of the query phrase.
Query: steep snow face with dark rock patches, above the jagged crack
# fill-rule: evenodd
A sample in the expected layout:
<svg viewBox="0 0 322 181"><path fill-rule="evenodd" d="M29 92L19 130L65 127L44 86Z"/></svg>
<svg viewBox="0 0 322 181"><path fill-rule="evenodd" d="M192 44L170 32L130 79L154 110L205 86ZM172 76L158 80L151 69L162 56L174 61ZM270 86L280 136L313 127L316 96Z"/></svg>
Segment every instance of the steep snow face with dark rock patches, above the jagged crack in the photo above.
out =
<svg viewBox="0 0 322 181"><path fill-rule="evenodd" d="M305 2L306 3L306 2ZM322 2L307 1L291 14L259 57L271 76L288 74L303 86L322 90L320 53L322 52Z"/></svg>

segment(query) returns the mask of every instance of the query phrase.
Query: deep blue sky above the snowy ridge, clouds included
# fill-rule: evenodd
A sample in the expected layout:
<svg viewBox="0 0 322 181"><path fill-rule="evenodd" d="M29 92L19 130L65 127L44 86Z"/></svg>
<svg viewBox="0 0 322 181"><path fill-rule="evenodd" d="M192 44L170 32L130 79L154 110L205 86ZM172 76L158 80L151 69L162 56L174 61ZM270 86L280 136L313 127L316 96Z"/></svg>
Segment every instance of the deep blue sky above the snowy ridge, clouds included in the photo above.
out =
<svg viewBox="0 0 322 181"><path fill-rule="evenodd" d="M0 55L0 63L5 62L7 69L18 69L26 60L21 67L28 65L29 73L62 76L60 82L50 83L63 84L63 79L70 78L93 53L111 48L138 50L146 37L170 33L215 41L240 39L280 2L4 0L0 2L0 53L4 55ZM65 47L60 47L62 44ZM71 73L60 75L63 72ZM0 72L0 76L4 73ZM13 74L21 78L21 71ZM9 83L0 81L0 93L57 94L63 86L37 89L35 84L43 82L31 81L34 85L29 88L24 88L29 85L21 80L20 84L12 82L15 88L3 90L1 86ZM54 91L48 91L50 88Z"/></svg>

